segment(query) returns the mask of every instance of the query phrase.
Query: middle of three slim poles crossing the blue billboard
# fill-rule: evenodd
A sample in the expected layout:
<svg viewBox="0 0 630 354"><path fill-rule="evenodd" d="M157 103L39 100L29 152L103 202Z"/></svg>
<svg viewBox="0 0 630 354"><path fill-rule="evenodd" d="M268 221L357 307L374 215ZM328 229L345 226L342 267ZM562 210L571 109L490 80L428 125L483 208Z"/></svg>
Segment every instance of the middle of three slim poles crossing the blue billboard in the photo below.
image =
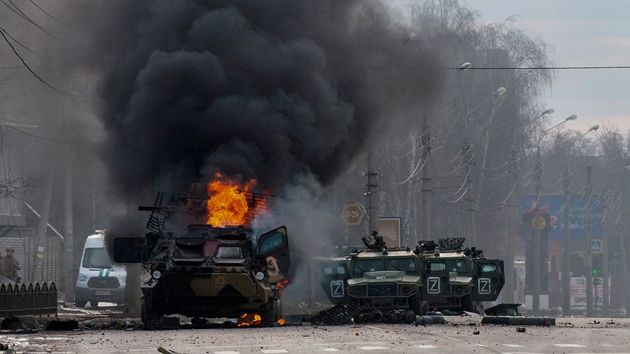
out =
<svg viewBox="0 0 630 354"><path fill-rule="evenodd" d="M568 171L568 164L564 165L562 177L562 188L564 190L564 208L562 211L564 224L564 249L562 255L562 309L564 316L571 313L571 174Z"/></svg>

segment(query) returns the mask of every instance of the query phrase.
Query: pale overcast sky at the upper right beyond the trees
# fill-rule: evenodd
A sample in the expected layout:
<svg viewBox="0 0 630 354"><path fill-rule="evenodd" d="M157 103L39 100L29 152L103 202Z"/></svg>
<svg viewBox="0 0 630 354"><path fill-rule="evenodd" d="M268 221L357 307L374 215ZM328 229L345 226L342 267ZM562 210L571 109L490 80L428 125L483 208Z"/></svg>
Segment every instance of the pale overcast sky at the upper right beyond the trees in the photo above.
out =
<svg viewBox="0 0 630 354"><path fill-rule="evenodd" d="M418 2L394 1L403 8ZM517 16L517 28L555 48L549 57L556 67L630 65L629 0L462 3L480 11L486 22ZM578 120L568 123L571 128L586 131L604 122L617 125L625 135L630 130L630 69L556 70L556 81L545 101L556 110L552 123L576 114Z"/></svg>

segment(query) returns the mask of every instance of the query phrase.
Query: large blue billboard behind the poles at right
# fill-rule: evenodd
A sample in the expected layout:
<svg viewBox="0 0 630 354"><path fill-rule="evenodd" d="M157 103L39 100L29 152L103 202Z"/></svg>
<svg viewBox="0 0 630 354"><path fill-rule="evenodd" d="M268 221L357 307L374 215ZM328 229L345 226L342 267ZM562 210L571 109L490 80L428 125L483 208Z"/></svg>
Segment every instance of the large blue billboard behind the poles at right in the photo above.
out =
<svg viewBox="0 0 630 354"><path fill-rule="evenodd" d="M521 197L520 211L521 214L531 214L532 205L536 199L535 195L523 195ZM569 235L571 239L586 239L586 219L587 208L592 207L592 238L599 239L602 234L602 218L604 217L604 202L599 194L588 195L571 195L571 199L567 203L569 212L569 222L565 225L563 222L564 212L564 195L541 195L538 202L539 209L542 214L549 215L549 239L563 239L564 228L569 227Z"/></svg>

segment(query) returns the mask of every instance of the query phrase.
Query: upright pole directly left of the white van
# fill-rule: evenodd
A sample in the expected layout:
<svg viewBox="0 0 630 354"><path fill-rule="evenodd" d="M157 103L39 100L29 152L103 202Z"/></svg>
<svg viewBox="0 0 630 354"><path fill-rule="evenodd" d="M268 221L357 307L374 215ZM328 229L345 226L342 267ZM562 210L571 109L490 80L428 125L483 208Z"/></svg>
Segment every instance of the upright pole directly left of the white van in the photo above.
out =
<svg viewBox="0 0 630 354"><path fill-rule="evenodd" d="M74 220L72 214L72 153L69 152L66 160L66 181L65 181L65 193L64 193L64 225L65 225L65 237L64 244L66 246L66 256L64 261L66 263L65 271L65 295L66 302L74 302L74 238L73 228Z"/></svg>

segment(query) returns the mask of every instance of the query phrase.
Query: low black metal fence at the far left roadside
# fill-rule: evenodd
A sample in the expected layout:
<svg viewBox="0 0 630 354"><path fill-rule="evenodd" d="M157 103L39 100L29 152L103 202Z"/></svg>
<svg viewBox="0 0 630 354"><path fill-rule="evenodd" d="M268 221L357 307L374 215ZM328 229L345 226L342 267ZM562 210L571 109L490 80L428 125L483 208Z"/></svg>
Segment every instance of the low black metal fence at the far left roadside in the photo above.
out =
<svg viewBox="0 0 630 354"><path fill-rule="evenodd" d="M0 317L57 314L55 282L0 284Z"/></svg>

